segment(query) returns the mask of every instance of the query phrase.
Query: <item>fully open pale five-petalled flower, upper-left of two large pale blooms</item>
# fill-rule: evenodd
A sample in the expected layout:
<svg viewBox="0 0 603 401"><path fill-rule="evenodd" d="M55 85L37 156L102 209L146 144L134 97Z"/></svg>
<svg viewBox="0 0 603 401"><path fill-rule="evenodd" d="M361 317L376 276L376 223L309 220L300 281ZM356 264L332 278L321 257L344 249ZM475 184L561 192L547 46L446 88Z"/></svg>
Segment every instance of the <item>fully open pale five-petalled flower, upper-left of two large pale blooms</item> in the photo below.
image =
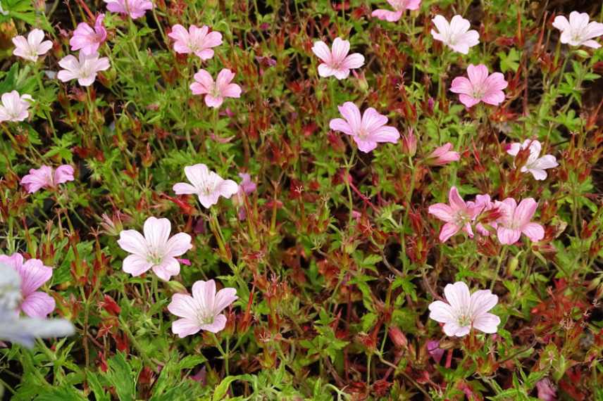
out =
<svg viewBox="0 0 603 401"><path fill-rule="evenodd" d="M123 271L139 276L153 269L160 279L169 281L170 276L180 273L180 263L176 257L192 248L191 236L178 233L170 238L170 220L155 217L149 217L144 222L143 231L144 236L136 230L120 232L117 243L132 254L123 260Z"/></svg>

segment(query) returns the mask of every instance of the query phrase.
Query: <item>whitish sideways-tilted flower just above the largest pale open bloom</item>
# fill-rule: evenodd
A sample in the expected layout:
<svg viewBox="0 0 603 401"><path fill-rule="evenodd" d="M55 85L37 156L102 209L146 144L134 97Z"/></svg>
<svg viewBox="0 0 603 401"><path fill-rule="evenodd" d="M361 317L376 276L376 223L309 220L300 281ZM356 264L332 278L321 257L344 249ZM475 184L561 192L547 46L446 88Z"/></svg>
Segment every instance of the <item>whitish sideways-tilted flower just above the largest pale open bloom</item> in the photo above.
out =
<svg viewBox="0 0 603 401"><path fill-rule="evenodd" d="M210 208L211 205L218 203L220 196L228 199L239 191L236 182L232 179L223 179L204 164L186 166L185 175L192 185L179 182L174 184L174 192L178 195L196 194L204 208Z"/></svg>

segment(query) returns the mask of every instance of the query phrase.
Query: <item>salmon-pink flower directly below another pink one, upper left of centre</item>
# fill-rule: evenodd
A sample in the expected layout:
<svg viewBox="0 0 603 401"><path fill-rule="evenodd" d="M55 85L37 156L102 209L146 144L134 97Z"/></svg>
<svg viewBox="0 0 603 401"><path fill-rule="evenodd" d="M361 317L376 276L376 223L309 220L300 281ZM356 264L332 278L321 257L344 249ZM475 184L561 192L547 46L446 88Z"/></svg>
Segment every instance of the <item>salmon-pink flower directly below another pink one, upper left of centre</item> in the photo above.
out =
<svg viewBox="0 0 603 401"><path fill-rule="evenodd" d="M205 95L205 104L209 107L218 108L222 105L224 98L241 97L241 87L237 84L231 84L235 73L223 68L213 82L213 78L206 70L199 70L194 75L194 80L190 84L190 89L194 95Z"/></svg>

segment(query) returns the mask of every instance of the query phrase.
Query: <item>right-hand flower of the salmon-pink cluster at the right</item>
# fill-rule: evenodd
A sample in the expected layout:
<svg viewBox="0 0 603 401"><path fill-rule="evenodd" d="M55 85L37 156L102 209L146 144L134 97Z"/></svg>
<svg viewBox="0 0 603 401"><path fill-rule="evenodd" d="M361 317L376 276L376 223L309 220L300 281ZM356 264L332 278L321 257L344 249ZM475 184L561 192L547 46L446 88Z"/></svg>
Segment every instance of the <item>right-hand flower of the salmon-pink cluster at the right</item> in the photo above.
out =
<svg viewBox="0 0 603 401"><path fill-rule="evenodd" d="M521 233L526 234L531 241L545 238L545 229L540 224L532 223L538 203L533 198L526 198L517 205L514 198L496 201L502 216L497 219L497 236L500 243L511 245L519 241Z"/></svg>

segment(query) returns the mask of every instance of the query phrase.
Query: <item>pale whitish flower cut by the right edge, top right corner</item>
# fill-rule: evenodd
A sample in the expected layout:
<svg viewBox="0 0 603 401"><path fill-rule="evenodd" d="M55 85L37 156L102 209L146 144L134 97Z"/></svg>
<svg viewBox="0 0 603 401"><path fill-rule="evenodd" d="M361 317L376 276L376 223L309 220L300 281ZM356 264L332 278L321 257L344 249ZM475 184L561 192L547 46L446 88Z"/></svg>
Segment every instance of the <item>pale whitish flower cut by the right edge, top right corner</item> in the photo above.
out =
<svg viewBox="0 0 603 401"><path fill-rule="evenodd" d="M588 22L587 13L578 13L572 11L569 14L569 21L563 15L555 17L553 26L561 31L561 43L571 46L588 46L592 49L599 49L601 45L593 40L603 35L603 24L592 21Z"/></svg>

